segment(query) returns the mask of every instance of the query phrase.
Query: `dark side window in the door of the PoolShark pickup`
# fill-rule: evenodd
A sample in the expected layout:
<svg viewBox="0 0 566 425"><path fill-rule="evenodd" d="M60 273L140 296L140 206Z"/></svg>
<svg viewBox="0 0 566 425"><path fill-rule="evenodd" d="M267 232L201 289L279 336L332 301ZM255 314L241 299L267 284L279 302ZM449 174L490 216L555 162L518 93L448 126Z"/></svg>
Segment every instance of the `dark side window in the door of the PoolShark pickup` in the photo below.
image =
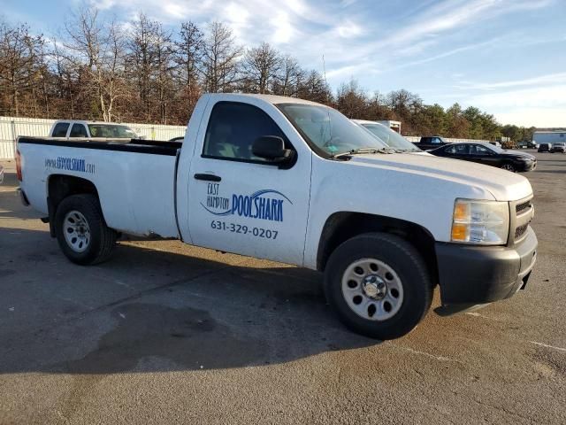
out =
<svg viewBox="0 0 566 425"><path fill-rule="evenodd" d="M276 135L287 148L287 137L264 111L251 104L218 102L210 113L204 136L203 156L253 162L268 162L252 153L252 144L258 137Z"/></svg>

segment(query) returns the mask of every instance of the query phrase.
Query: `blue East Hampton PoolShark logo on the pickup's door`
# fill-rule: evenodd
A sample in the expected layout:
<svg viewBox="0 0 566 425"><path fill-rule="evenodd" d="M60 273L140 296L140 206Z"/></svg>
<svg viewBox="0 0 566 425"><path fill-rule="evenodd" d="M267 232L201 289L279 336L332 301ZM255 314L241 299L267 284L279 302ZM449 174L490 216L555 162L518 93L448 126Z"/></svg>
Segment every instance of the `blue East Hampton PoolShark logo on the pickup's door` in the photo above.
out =
<svg viewBox="0 0 566 425"><path fill-rule="evenodd" d="M257 220L283 221L283 205L293 205L291 200L278 190L262 189L251 195L234 193L232 197L219 196L219 184L209 183L206 204L203 208L211 214L238 215Z"/></svg>

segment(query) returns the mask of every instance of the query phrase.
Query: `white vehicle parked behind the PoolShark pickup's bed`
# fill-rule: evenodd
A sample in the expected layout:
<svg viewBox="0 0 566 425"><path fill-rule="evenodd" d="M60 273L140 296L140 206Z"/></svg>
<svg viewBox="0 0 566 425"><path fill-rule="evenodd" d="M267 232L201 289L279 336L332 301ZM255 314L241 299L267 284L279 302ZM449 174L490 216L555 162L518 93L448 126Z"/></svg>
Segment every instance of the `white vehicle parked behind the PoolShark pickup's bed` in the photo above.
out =
<svg viewBox="0 0 566 425"><path fill-rule="evenodd" d="M132 128L124 124L111 122L58 120L50 129L50 137L65 137L67 139L137 139Z"/></svg>

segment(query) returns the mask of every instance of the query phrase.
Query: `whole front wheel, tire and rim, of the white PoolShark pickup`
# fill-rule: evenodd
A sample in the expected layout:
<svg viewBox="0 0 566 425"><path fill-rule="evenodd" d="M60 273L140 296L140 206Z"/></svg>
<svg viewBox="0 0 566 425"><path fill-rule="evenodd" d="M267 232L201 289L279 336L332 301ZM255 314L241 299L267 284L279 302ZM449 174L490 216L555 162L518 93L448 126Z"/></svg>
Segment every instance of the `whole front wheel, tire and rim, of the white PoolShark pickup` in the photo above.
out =
<svg viewBox="0 0 566 425"><path fill-rule="evenodd" d="M325 293L348 328L386 340L417 327L431 306L432 282L410 243L369 233L333 251L325 270Z"/></svg>

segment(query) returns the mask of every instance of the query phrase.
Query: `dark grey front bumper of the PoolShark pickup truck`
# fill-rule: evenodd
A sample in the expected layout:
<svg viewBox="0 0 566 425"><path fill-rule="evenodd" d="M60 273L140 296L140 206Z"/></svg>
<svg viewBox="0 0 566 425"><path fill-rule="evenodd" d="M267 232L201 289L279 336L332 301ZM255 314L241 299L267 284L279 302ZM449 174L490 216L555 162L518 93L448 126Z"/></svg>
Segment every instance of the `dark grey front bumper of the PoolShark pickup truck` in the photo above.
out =
<svg viewBox="0 0 566 425"><path fill-rule="evenodd" d="M442 305L455 313L513 296L529 279L538 244L531 227L515 247L436 243Z"/></svg>

